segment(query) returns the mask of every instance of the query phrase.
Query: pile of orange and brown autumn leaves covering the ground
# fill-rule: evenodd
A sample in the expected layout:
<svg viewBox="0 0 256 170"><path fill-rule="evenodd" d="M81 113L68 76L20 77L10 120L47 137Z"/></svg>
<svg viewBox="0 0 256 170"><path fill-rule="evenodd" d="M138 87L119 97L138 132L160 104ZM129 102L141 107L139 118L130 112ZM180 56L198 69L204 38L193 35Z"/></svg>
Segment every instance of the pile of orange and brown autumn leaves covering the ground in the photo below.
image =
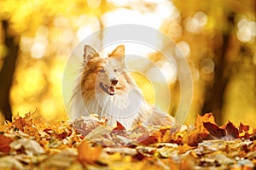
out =
<svg viewBox="0 0 256 170"><path fill-rule="evenodd" d="M0 169L253 169L256 129L212 114L195 126L126 130L95 115L76 122L15 116L0 127Z"/></svg>

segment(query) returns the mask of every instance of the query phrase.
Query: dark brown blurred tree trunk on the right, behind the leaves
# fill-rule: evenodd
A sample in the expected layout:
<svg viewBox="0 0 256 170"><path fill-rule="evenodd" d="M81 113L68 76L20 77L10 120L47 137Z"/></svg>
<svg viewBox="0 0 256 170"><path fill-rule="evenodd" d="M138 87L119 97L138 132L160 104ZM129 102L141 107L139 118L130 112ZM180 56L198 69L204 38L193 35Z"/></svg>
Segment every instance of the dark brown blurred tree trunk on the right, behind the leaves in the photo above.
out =
<svg viewBox="0 0 256 170"><path fill-rule="evenodd" d="M212 112L218 125L223 124L224 92L232 74L232 61L229 51L232 45L234 32L234 16L230 13L226 17L226 25L221 32L215 35L213 41L214 76L212 82L207 82L205 101L201 113Z"/></svg>

